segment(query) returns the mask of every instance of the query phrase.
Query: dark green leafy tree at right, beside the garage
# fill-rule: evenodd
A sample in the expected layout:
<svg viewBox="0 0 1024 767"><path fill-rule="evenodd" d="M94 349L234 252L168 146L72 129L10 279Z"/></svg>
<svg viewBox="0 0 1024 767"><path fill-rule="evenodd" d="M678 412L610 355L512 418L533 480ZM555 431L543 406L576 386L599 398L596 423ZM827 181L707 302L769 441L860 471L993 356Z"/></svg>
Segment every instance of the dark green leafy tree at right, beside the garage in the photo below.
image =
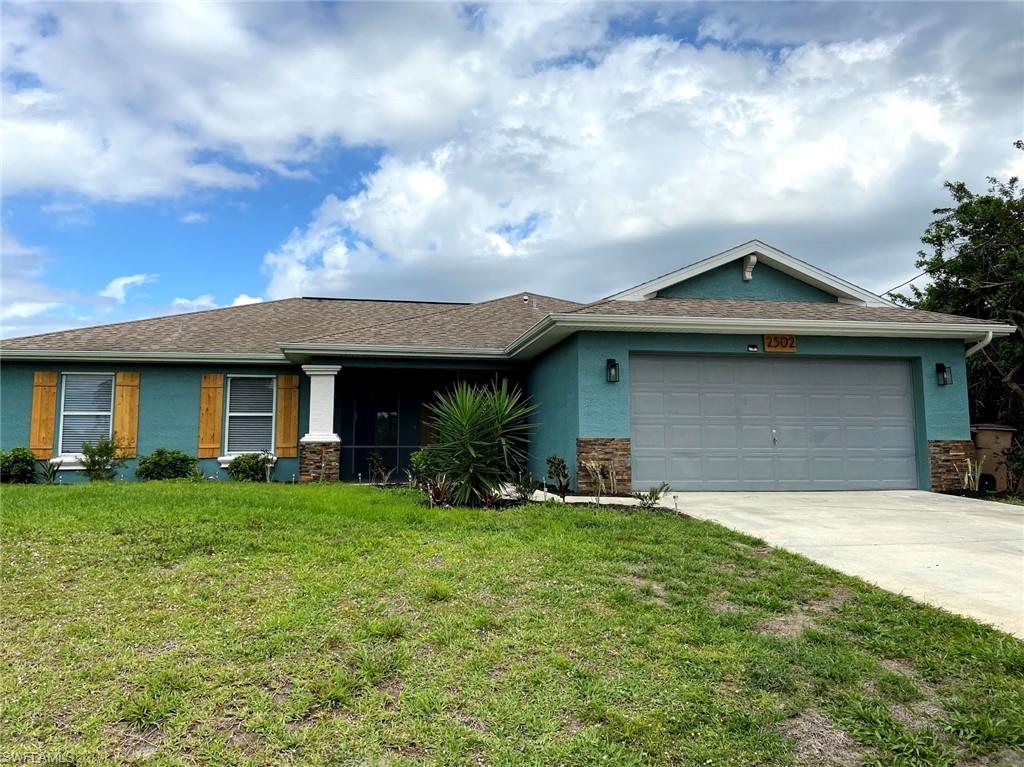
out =
<svg viewBox="0 0 1024 767"><path fill-rule="evenodd" d="M1017 142L1018 148L1024 143ZM918 267L931 276L910 296L896 300L916 309L1007 322L1017 332L968 359L974 422L1015 427L1015 474L1024 469L1024 189L1017 177L988 178L983 195L963 181L945 186L954 206L933 211L918 252Z"/></svg>

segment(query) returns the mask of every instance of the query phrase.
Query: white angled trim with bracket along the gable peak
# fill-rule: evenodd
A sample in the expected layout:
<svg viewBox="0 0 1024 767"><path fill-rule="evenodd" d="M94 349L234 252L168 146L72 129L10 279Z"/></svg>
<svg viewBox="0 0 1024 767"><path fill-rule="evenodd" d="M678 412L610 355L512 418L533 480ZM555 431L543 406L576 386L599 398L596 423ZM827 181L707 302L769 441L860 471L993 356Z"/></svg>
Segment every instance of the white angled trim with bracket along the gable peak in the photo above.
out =
<svg viewBox="0 0 1024 767"><path fill-rule="evenodd" d="M778 248L773 248L760 240L751 240L749 243L737 245L735 248L722 251L702 261L691 263L681 269L654 278L646 283L630 288L629 290L616 293L608 298L615 301L646 301L654 298L657 292L670 288L678 283L685 282L697 274L718 268L724 264L735 261L743 256L755 255L758 263L764 263L773 269L788 274L795 280L807 283L825 293L830 293L843 303L858 303L865 306L895 306L892 301L887 301L881 296L877 296L870 291L864 290L853 283L848 283L842 278L830 274L824 269L819 269L813 264L801 261L799 258L783 253ZM757 270L755 269L755 279Z"/></svg>

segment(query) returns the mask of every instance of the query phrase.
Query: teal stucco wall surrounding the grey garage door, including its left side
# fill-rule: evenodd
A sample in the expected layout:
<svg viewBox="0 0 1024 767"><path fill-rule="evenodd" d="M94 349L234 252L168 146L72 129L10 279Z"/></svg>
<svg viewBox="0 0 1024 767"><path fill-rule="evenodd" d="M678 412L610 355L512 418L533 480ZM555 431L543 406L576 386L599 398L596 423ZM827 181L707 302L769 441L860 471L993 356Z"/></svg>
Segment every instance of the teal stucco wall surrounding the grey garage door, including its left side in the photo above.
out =
<svg viewBox="0 0 1024 767"><path fill-rule="evenodd" d="M761 336L666 333L579 333L538 360L530 373L530 393L544 423L539 446L565 452L575 463L574 438L630 436L630 353L748 355L748 344ZM758 352L763 354L764 352ZM575 358L578 371L570 370ZM928 440L970 439L967 372L962 341L801 336L799 357L902 358L910 363L918 422L920 486L929 485ZM605 380L605 360L618 360L621 381ZM952 368L953 385L939 386L935 364ZM568 389L575 382L575 394ZM547 401L545 401L547 400ZM556 413L563 409L567 413ZM574 411L574 412L573 412ZM573 426L575 429L573 430ZM571 451L569 445L571 444ZM531 463L531 470L538 464Z"/></svg>

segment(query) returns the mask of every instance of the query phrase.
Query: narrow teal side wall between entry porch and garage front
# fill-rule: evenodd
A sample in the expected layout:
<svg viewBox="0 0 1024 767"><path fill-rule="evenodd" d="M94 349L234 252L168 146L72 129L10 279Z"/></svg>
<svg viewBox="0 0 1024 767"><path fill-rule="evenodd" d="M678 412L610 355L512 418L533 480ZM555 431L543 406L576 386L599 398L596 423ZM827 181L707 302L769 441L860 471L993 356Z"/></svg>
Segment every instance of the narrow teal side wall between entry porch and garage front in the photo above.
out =
<svg viewBox="0 0 1024 767"><path fill-rule="evenodd" d="M580 433L579 344L565 339L534 360L526 378L530 401L537 406L530 434L529 472L541 480L548 456L561 456L575 474L575 438Z"/></svg>

